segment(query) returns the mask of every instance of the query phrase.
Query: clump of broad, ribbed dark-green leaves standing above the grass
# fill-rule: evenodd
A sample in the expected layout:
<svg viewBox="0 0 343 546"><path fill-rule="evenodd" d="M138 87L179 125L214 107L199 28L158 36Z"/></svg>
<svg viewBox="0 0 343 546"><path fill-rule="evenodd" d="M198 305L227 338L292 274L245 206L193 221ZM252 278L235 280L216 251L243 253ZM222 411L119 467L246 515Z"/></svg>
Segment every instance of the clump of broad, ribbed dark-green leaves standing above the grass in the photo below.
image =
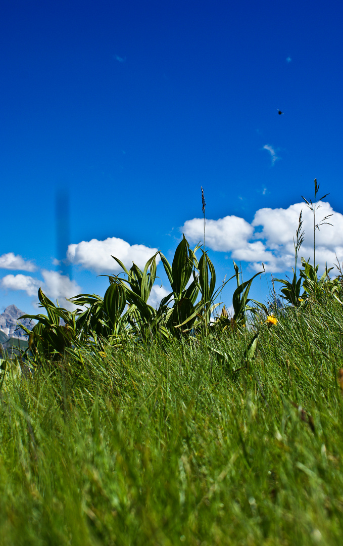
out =
<svg viewBox="0 0 343 546"><path fill-rule="evenodd" d="M167 342L173 338L207 336L213 329L224 331L228 326L233 330L244 327L247 313L256 312L257 307L267 312L262 304L248 297L251 283L259 273L243 282L238 265L233 263L235 272L231 278L237 280L232 299L233 317L228 318L227 313L225 316L222 312L213 321L213 312L219 305L215 299L226 283L215 288L214 265L203 250L198 260L198 250L200 245L192 250L183 235L171 264L163 253L157 252L147 261L143 271L135 263L128 270L121 260L112 256L121 266L122 273L107 275L110 286L103 298L96 294L79 294L71 298L69 301L77 306L73 312L53 304L39 289L40 306L45 308L46 314L22 317L37 321L31 332L23 327L29 334L29 350L34 359L58 360L66 352L78 355L80 347L95 346L104 341L116 346L125 337L144 342ZM148 300L157 280L158 257L171 292L154 308Z"/></svg>

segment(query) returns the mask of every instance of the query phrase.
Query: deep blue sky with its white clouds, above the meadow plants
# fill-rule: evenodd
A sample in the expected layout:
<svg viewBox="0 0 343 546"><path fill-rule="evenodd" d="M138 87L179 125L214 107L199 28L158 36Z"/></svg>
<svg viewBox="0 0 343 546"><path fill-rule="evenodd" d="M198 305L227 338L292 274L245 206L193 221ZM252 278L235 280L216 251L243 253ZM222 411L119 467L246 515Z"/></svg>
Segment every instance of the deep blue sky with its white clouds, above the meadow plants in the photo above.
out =
<svg viewBox="0 0 343 546"><path fill-rule="evenodd" d="M172 259L182 230L195 246L201 186L219 283L232 259L244 278L264 262L253 295L266 298L270 272L293 265L300 195L313 197L315 177L330 192L319 213L334 215L318 260L343 259L342 11L3 0L0 310L32 312L39 286L61 305L103 294L111 254Z"/></svg>

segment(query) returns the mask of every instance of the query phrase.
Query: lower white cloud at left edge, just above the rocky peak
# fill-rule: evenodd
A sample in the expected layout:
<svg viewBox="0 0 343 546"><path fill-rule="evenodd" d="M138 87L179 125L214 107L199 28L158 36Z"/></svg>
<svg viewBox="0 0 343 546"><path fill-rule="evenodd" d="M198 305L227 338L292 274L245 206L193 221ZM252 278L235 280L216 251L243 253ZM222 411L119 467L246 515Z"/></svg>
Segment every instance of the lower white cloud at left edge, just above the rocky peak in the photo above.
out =
<svg viewBox="0 0 343 546"><path fill-rule="evenodd" d="M71 296L79 294L81 292L79 285L58 271L44 269L41 274L44 281L29 275L5 275L1 280L1 287L5 290L24 290L28 296L37 296L38 289L41 288L52 301L58 299L61 307L74 310L75 305L64 298L71 298Z"/></svg>

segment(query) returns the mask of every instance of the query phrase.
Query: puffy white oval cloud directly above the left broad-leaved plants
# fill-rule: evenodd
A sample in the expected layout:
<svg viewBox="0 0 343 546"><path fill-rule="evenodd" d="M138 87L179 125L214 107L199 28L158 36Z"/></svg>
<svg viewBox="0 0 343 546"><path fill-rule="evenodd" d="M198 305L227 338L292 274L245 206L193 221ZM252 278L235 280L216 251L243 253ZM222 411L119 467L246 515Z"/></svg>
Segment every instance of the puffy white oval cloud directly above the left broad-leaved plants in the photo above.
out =
<svg viewBox="0 0 343 546"><path fill-rule="evenodd" d="M154 256L157 248L149 248L144 245L129 245L127 241L117 237L109 237L105 241L92 239L81 241L77 245L69 245L67 257L74 265L81 265L84 269L90 269L97 273L115 273L121 271L112 256L116 256L126 268L130 269L135 262L139 268L144 268L148 259ZM157 256L156 262L160 260Z"/></svg>

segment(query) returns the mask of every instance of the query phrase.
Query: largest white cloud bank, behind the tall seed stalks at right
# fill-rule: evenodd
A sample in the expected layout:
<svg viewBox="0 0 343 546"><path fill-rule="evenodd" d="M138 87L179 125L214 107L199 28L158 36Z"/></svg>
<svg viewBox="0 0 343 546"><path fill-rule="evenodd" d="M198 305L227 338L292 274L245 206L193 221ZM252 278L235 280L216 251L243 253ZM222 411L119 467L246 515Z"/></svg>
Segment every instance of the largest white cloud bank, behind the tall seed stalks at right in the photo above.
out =
<svg viewBox="0 0 343 546"><path fill-rule="evenodd" d="M316 230L316 262L321 268L332 266L343 259L343 215L335 212L329 203L321 203L316 223L332 214L329 222ZM234 260L248 262L252 269L260 271L262 262L266 271L277 272L294 265L295 236L300 211L303 211L305 238L300 256L313 258L313 215L305 203L290 205L288 209L259 209L251 224L237 216L226 216L206 222L206 246L212 250L230 252ZM202 219L194 218L181 228L186 238L194 243L202 240Z"/></svg>

